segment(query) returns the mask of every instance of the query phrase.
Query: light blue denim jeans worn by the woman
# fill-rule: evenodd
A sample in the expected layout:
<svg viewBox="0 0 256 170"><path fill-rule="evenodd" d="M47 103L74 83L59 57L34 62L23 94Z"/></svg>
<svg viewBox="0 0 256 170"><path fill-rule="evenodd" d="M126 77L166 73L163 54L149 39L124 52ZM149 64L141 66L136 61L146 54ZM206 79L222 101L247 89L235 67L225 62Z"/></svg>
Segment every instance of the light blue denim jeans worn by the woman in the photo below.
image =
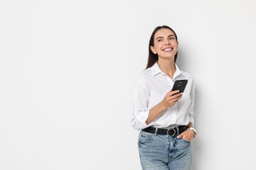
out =
<svg viewBox="0 0 256 170"><path fill-rule="evenodd" d="M140 163L143 170L189 170L192 162L190 141L177 135L156 135L140 131Z"/></svg>

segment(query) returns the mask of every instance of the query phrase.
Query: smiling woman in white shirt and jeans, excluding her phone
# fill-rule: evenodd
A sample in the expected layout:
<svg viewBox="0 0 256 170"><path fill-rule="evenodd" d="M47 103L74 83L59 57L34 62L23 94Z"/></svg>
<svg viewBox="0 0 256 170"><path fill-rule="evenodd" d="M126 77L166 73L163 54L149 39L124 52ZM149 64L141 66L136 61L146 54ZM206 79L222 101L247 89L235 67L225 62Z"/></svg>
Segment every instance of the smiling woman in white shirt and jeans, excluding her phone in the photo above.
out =
<svg viewBox="0 0 256 170"><path fill-rule="evenodd" d="M194 124L194 81L176 65L179 42L171 27L154 29L148 64L135 82L131 126L140 130L142 169L190 169ZM184 92L171 90L175 80L187 80Z"/></svg>

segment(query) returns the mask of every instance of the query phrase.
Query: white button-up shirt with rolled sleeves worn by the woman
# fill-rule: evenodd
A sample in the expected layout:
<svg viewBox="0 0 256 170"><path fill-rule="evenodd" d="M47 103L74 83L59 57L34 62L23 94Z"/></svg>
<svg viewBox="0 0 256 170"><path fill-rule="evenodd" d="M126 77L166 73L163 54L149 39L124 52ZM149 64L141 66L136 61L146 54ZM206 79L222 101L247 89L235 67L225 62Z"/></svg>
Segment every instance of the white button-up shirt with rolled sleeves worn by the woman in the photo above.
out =
<svg viewBox="0 0 256 170"><path fill-rule="evenodd" d="M194 81L189 73L181 71L177 65L173 79L161 71L156 62L152 67L142 71L135 82L133 114L131 126L135 129L144 129L148 126L167 128L179 125L194 124ZM188 80L181 99L163 111L150 124L146 124L149 110L158 105L163 100L166 93L171 90L175 80Z"/></svg>

